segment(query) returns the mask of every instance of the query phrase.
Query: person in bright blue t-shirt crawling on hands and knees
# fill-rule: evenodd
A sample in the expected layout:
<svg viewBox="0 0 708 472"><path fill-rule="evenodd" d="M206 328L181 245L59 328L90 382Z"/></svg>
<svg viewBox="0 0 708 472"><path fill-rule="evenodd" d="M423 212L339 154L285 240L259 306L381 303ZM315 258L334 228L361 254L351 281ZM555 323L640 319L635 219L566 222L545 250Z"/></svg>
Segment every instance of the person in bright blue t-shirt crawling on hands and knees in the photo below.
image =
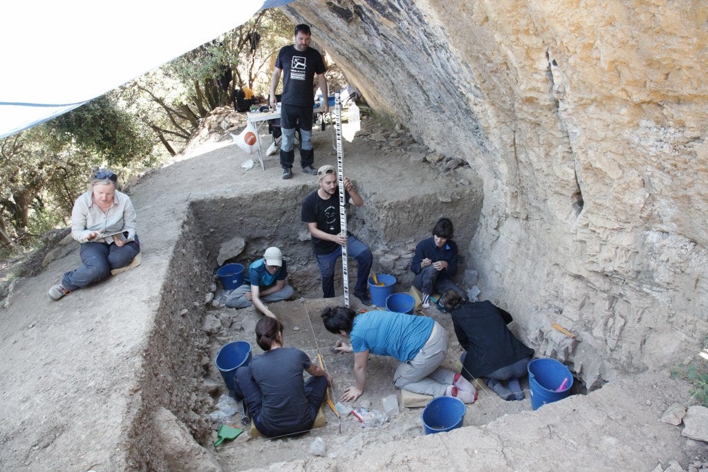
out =
<svg viewBox="0 0 708 472"><path fill-rule="evenodd" d="M343 401L355 401L364 393L370 354L401 362L394 374L398 388L436 397L455 396L465 403L476 400L476 390L467 379L440 367L447 352L447 333L433 318L393 311L357 313L346 306L332 306L321 316L330 333L350 339L351 344L340 340L335 350L354 353L355 385L344 389Z"/></svg>

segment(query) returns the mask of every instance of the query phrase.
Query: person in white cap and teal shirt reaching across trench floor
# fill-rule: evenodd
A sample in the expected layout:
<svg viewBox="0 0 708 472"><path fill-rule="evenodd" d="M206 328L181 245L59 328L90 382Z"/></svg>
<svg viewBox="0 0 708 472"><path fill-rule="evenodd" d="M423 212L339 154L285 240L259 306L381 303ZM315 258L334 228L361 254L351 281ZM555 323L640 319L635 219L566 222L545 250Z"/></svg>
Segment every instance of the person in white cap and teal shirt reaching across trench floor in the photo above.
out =
<svg viewBox="0 0 708 472"><path fill-rule="evenodd" d="M263 258L249 266L249 275L241 287L236 287L224 303L229 308L256 306L265 316L276 318L264 301L281 301L292 298L295 290L285 283L287 267L282 252L275 246L265 250Z"/></svg>

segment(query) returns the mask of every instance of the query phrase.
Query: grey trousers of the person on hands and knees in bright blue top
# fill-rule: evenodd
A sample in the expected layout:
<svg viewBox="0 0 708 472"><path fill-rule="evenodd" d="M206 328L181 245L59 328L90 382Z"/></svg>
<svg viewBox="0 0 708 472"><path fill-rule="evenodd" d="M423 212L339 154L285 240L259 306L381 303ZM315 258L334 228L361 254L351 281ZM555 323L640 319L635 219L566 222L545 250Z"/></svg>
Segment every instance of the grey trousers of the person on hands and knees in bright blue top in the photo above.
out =
<svg viewBox="0 0 708 472"><path fill-rule="evenodd" d="M401 362L394 374L394 384L413 393L443 396L455 380L455 372L440 367L447 352L447 333L435 321L433 333L416 357Z"/></svg>

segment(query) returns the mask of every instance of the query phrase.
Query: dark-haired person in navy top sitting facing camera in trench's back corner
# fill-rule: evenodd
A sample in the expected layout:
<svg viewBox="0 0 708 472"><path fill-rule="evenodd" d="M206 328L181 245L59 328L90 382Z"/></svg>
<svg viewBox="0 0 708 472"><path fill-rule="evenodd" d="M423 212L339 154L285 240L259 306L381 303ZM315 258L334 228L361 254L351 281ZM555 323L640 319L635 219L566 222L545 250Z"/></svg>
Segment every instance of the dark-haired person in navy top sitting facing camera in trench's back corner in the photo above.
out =
<svg viewBox="0 0 708 472"><path fill-rule="evenodd" d="M452 221L440 218L433 228L433 237L416 246L411 270L416 274L413 285L423 293L423 308L430 308L430 294L455 290L467 298L450 277L457 273L457 244L452 241Z"/></svg>

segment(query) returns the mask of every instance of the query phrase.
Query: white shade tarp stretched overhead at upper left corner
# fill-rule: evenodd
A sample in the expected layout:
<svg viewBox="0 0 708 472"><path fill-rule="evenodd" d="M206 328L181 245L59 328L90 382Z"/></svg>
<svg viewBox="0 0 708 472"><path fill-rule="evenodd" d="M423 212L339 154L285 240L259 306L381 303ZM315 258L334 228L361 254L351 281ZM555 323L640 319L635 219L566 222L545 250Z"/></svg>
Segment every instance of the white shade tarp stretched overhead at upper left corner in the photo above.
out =
<svg viewBox="0 0 708 472"><path fill-rule="evenodd" d="M1 8L0 138L66 113L292 0L10 1Z"/></svg>

